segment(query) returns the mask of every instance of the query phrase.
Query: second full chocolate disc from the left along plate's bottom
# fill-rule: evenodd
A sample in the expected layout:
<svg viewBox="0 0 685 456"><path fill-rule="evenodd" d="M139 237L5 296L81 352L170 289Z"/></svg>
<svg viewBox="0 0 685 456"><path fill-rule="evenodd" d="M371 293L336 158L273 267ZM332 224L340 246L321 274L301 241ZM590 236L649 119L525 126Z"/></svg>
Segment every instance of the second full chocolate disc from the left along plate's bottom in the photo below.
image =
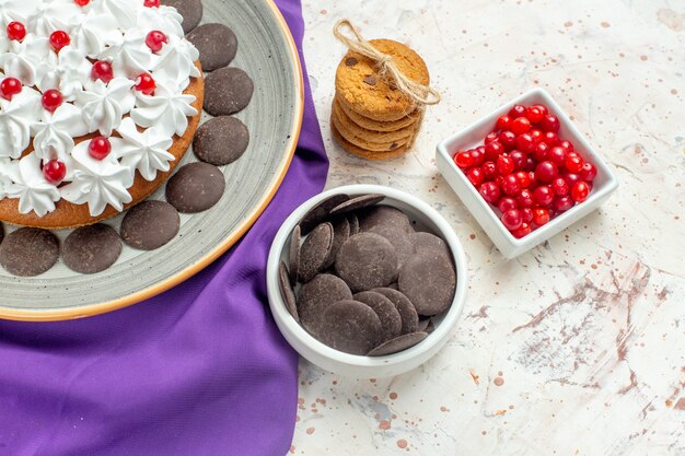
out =
<svg viewBox="0 0 685 456"><path fill-rule="evenodd" d="M104 271L121 255L121 238L108 225L96 223L72 231L62 246L62 259L71 270L81 273Z"/></svg>

